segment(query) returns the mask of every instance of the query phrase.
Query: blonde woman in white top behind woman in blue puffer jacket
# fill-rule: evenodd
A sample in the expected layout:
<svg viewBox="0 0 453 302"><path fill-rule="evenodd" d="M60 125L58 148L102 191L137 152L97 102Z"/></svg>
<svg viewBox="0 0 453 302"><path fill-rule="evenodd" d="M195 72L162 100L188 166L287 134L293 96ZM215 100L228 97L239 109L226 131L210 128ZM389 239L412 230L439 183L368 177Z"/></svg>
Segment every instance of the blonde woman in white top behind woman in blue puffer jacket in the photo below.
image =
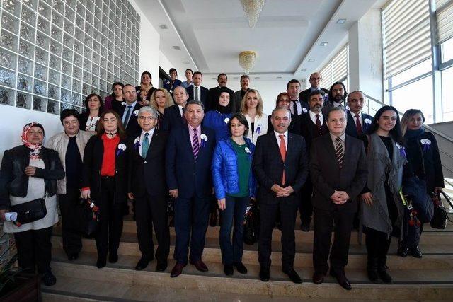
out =
<svg viewBox="0 0 453 302"><path fill-rule="evenodd" d="M250 125L247 138L256 144L260 135L268 133L268 115L263 113L263 99L255 89L249 89L242 98L241 112Z"/></svg>

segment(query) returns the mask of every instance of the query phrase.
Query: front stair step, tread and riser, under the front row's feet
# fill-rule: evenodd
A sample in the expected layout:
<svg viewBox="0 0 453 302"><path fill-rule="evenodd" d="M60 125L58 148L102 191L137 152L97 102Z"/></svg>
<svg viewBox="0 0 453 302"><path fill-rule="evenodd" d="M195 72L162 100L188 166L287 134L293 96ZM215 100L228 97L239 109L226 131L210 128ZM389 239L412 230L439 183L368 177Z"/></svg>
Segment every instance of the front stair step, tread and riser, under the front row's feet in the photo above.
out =
<svg viewBox="0 0 453 302"><path fill-rule="evenodd" d="M106 296L114 292L118 295L118 298L131 298L132 300L142 298L120 296L121 293L129 290L127 286L149 286L150 288L156 286L163 291L164 289L203 291L199 296L201 299L207 298L204 294L206 291L210 294L212 292L228 293L228 297L231 298L235 298L235 294L241 294L241 296L242 294L256 294L264 295L267 298L288 296L319 299L340 298L348 301L370 298L388 300L401 298L417 301L448 300L453 295L452 269L390 269L389 272L395 280L391 290L389 290L388 285L369 284L364 269L347 269L346 274L352 282L352 291L345 291L331 277L326 277L326 282L319 286L312 284L312 269L296 268L304 283L292 284L287 281L287 276L281 272L280 267L271 268L271 281L261 282L258 280L258 265L247 265L248 274L246 275L235 272L232 277L225 277L222 264L207 262L210 269L207 273L198 272L195 267L188 265L181 276L171 278L168 272L170 272L174 260L169 260L166 272L158 273L154 272L155 262L151 262L144 271L135 271L131 267L135 265L137 257L130 256L122 256L117 263L114 265L108 263L107 267L103 269L97 269L93 265L96 262L96 254L90 252L82 252L81 257L73 262L65 260L63 252L54 253L53 259L52 270L57 276L57 284L51 288L43 289L45 292L75 291L78 286L76 286L76 283L73 284L73 280L76 282L81 279L84 280L78 290L81 293L93 294L98 292L102 293L102 296ZM113 280L117 282L115 283L117 285L111 285ZM96 289L96 284L100 285L101 288ZM423 284L423 286L420 286L420 284ZM173 290L170 292L173 292ZM164 300L168 300L168 296L166 297ZM145 295L144 298L154 300L153 296ZM184 298L184 300L186 299ZM189 296L188 300L194 301L195 298ZM197 298L197 300L200 300L200 298ZM216 299L213 297L212 300ZM229 300L231 301L231 299Z"/></svg>

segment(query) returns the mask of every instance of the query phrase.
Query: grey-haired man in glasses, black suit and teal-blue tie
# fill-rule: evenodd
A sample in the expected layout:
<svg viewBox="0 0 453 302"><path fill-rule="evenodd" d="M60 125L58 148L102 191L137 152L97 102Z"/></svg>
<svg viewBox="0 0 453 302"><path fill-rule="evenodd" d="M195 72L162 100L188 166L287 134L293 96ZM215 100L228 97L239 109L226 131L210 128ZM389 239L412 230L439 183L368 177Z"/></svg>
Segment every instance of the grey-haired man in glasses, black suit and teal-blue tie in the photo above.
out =
<svg viewBox="0 0 453 302"><path fill-rule="evenodd" d="M145 269L154 260L153 225L159 247L156 250L157 272L167 268L170 252L168 230L165 146L166 134L155 128L157 112L144 106L138 122L142 133L130 138L127 195L135 201L137 237L142 257L135 269Z"/></svg>

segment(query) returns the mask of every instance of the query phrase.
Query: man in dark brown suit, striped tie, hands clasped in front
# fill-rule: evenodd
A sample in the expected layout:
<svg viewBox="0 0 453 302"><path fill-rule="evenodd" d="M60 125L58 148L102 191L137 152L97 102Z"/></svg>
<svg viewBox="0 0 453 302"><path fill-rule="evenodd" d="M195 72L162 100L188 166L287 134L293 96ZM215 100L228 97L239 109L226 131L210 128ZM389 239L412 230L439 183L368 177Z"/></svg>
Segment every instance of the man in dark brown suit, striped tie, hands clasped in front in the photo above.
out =
<svg viewBox="0 0 453 302"><path fill-rule="evenodd" d="M345 134L346 112L331 108L327 114L328 134L314 139L310 151L310 175L314 186L313 282L321 284L328 271L331 234L331 276L344 289L351 289L345 276L352 221L357 196L367 181L367 158L362 141Z"/></svg>

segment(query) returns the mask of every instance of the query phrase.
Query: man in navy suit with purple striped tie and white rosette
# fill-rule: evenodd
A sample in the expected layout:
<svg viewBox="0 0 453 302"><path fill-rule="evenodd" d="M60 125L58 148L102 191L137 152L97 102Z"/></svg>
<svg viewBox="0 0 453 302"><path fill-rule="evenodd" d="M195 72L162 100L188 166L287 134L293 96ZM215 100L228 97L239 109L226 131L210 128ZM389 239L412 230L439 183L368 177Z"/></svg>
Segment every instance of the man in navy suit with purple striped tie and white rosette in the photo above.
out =
<svg viewBox="0 0 453 302"><path fill-rule="evenodd" d="M171 277L178 277L188 262L207 272L201 257L205 247L212 191L211 160L215 146L212 129L201 127L205 113L202 103L191 100L185 105L187 124L175 127L166 146L166 179L175 201L176 265Z"/></svg>

